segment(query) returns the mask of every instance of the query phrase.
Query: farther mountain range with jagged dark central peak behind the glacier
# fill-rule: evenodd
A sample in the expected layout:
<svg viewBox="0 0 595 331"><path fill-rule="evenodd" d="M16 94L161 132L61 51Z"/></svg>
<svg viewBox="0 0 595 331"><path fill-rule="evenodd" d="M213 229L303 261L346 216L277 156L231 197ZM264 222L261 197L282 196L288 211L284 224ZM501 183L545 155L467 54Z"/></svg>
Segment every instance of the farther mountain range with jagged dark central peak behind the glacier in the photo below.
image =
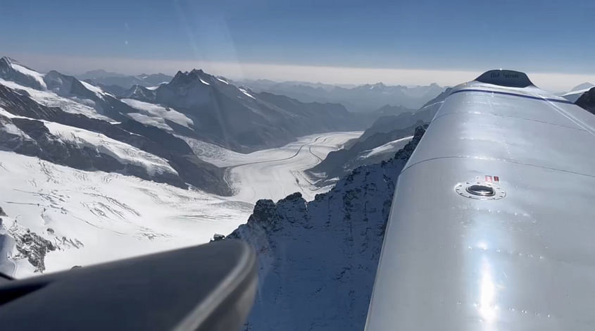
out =
<svg viewBox="0 0 595 331"><path fill-rule="evenodd" d="M46 106L64 106L56 99L75 101L78 108L86 108L87 116L104 116L123 124L134 120L234 151L279 147L303 135L362 130L370 124L368 118L351 114L339 104L303 103L287 96L256 94L202 70L178 72L161 85L134 85L120 99L101 86L54 70L37 73L9 58L3 63L0 78L13 83L7 86L25 91L39 102L51 99ZM89 77L101 74L93 72ZM164 116L170 111L172 116ZM174 117L180 120L172 120Z"/></svg>

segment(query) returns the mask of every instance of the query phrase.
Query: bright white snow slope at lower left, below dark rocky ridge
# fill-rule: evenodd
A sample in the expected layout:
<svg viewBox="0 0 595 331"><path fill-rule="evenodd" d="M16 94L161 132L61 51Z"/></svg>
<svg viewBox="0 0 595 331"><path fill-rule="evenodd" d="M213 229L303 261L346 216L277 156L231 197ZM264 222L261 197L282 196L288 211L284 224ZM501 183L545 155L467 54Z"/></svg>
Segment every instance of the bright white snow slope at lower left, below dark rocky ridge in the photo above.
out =
<svg viewBox="0 0 595 331"><path fill-rule="evenodd" d="M8 215L0 217L0 232L29 229L54 244L56 249L46 252L46 271L202 244L244 223L252 207L8 151L0 151L0 182L0 208ZM18 256L16 247L11 252ZM20 256L14 275L30 276L34 267Z"/></svg>

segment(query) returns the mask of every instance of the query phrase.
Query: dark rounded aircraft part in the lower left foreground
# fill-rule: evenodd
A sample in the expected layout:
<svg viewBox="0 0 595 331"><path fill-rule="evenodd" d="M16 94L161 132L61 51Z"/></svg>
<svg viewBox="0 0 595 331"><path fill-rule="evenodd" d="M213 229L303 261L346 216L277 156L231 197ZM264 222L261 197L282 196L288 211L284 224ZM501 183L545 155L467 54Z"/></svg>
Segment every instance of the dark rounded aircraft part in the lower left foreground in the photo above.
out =
<svg viewBox="0 0 595 331"><path fill-rule="evenodd" d="M0 279L1 330L239 330L256 293L256 257L225 240Z"/></svg>

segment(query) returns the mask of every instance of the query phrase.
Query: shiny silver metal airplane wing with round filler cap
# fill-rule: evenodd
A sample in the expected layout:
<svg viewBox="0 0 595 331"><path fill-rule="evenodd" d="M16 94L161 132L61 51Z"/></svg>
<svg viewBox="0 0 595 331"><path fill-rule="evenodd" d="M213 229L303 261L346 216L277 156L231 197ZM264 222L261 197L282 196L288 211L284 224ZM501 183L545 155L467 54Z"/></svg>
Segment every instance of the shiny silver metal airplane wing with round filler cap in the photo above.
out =
<svg viewBox="0 0 595 331"><path fill-rule="evenodd" d="M595 116L492 70L399 177L366 329L594 330Z"/></svg>

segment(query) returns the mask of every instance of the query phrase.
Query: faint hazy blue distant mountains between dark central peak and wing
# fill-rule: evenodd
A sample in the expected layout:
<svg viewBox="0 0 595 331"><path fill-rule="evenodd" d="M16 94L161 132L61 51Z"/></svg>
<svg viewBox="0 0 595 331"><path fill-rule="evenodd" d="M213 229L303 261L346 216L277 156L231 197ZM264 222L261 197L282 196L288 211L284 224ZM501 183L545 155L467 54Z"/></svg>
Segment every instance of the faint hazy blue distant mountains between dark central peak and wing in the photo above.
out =
<svg viewBox="0 0 595 331"><path fill-rule="evenodd" d="M333 102L344 105L349 111L374 111L385 105L420 108L430 99L444 91L437 84L406 87L377 84L342 87L305 82L272 82L270 80L247 80L241 82L256 92L283 94L305 102Z"/></svg>

